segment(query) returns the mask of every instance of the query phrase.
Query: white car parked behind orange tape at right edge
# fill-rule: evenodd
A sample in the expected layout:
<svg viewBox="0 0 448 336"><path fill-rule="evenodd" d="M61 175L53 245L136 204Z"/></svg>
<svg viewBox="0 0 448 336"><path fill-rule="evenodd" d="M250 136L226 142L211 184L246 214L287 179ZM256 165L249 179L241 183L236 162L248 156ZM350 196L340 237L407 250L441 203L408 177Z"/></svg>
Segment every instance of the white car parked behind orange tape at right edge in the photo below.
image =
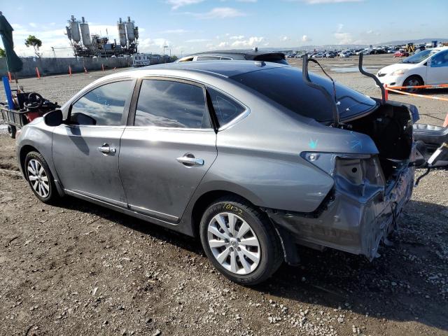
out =
<svg viewBox="0 0 448 336"><path fill-rule="evenodd" d="M426 49L385 66L377 73L388 86L440 85L448 83L448 47Z"/></svg>

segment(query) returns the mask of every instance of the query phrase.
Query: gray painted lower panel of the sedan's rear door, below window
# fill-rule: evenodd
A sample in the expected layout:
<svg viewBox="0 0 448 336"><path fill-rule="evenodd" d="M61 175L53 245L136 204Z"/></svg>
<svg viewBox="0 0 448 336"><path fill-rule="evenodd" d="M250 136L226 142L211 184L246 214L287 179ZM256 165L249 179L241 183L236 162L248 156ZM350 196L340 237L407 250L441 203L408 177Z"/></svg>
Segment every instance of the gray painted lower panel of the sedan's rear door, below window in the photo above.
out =
<svg viewBox="0 0 448 336"><path fill-rule="evenodd" d="M204 165L187 167L176 160L186 154L204 160ZM179 221L216 155L214 130L127 127L120 172L130 209Z"/></svg>

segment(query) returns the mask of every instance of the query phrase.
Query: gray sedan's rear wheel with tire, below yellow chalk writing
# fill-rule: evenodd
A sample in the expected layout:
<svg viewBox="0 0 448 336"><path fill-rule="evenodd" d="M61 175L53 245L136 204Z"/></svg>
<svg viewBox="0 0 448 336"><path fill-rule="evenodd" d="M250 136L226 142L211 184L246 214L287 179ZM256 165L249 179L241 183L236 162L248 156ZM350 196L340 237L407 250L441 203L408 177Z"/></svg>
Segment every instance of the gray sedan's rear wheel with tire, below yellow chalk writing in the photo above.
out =
<svg viewBox="0 0 448 336"><path fill-rule="evenodd" d="M207 257L228 279L247 286L265 281L283 262L283 249L267 216L239 197L211 204L200 237Z"/></svg>

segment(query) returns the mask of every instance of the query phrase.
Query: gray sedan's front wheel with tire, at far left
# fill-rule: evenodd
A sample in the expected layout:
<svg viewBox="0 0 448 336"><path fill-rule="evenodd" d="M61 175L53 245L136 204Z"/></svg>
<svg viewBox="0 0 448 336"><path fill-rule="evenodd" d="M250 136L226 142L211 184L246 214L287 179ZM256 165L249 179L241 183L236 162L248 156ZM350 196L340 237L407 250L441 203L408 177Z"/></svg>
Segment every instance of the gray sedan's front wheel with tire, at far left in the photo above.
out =
<svg viewBox="0 0 448 336"><path fill-rule="evenodd" d="M50 168L41 153L29 152L24 167L29 186L41 202L51 204L59 199Z"/></svg>

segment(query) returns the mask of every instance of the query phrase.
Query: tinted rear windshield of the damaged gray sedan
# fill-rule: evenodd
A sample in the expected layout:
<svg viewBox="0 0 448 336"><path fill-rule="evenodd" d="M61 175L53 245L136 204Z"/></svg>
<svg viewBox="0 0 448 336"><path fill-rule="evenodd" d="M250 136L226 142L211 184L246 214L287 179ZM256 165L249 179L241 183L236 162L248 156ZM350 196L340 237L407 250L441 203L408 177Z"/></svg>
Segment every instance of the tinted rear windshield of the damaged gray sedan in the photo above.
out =
<svg viewBox="0 0 448 336"><path fill-rule="evenodd" d="M309 77L313 83L323 85L332 94L330 80L312 73ZM302 71L293 66L253 71L230 78L251 87L300 116L314 118L321 122L332 121L332 107L323 97L322 92L305 84ZM372 98L339 83L336 83L336 95L341 120L365 113L377 106L377 102Z"/></svg>

